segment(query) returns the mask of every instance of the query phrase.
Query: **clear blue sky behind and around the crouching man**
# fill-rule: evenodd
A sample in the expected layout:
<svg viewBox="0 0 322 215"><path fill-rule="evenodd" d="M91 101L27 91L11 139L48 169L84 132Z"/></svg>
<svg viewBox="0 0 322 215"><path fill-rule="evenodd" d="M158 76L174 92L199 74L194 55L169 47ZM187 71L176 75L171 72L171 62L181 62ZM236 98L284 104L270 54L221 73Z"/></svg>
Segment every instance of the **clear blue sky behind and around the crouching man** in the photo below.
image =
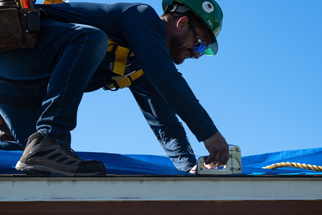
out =
<svg viewBox="0 0 322 215"><path fill-rule="evenodd" d="M141 2L162 14L161 0ZM217 2L223 10L217 55L177 68L219 131L242 156L321 147L322 1ZM185 129L195 154L207 155ZM128 89L84 95L72 148L165 155Z"/></svg>

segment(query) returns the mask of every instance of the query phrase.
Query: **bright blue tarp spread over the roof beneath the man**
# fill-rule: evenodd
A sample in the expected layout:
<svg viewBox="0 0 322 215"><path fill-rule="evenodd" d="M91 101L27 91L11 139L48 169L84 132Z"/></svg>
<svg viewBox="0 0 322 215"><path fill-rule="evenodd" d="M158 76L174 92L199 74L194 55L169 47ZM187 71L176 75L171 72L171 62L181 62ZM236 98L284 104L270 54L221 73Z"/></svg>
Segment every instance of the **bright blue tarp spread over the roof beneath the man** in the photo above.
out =
<svg viewBox="0 0 322 215"><path fill-rule="evenodd" d="M21 174L14 169L22 151L0 150L0 174ZM98 152L77 152L83 159L102 161L107 174L112 175L189 175L177 170L168 157L157 155L120 155ZM306 163L322 166L322 148L273 152L242 157L243 175L322 174L313 170L296 168L262 169L280 162Z"/></svg>

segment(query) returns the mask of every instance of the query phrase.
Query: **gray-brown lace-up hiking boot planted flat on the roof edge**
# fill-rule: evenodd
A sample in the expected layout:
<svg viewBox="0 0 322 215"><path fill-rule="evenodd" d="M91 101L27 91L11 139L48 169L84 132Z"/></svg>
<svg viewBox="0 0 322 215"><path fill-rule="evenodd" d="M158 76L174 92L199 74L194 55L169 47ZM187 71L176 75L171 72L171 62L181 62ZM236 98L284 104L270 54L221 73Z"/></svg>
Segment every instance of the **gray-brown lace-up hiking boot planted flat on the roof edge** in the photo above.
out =
<svg viewBox="0 0 322 215"><path fill-rule="evenodd" d="M27 175L106 175L101 161L80 159L74 150L40 132L28 138L16 169Z"/></svg>

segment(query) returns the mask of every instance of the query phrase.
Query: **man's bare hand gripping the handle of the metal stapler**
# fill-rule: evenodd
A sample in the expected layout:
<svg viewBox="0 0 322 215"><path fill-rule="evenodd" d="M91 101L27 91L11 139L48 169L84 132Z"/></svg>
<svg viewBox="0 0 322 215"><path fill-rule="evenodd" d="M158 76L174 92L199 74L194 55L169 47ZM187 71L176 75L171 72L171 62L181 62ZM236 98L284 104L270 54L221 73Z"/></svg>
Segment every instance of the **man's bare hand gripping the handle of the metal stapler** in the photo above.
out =
<svg viewBox="0 0 322 215"><path fill-rule="evenodd" d="M219 131L212 137L204 141L204 146L209 152L208 159L204 162L206 165L218 167L225 165L229 159L229 146Z"/></svg>

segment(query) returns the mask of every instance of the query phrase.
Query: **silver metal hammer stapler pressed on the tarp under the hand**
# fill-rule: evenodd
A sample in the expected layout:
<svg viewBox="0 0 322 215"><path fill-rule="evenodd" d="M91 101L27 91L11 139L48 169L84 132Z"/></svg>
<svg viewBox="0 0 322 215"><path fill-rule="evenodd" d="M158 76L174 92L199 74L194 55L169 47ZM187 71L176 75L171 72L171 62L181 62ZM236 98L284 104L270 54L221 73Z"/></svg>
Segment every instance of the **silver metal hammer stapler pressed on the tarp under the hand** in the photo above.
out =
<svg viewBox="0 0 322 215"><path fill-rule="evenodd" d="M242 173L242 155L239 146L229 145L229 160L223 167L218 169L205 169L204 162L208 156L197 159L196 174L200 175L226 175Z"/></svg>

